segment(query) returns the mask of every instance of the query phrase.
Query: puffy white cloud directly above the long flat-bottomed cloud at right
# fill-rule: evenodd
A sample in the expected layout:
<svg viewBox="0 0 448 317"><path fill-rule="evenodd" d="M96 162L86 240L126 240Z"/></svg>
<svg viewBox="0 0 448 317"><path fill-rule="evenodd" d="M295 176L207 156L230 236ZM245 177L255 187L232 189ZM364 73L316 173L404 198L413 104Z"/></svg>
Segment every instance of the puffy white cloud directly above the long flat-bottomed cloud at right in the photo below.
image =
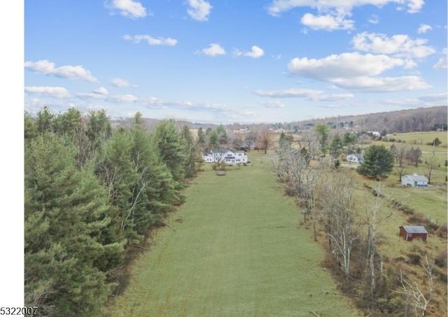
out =
<svg viewBox="0 0 448 317"><path fill-rule="evenodd" d="M423 58L434 54L433 47L426 45L428 40L417 38L413 40L406 34L391 37L385 34L363 32L353 37L353 48L365 52L393 54L395 57Z"/></svg>

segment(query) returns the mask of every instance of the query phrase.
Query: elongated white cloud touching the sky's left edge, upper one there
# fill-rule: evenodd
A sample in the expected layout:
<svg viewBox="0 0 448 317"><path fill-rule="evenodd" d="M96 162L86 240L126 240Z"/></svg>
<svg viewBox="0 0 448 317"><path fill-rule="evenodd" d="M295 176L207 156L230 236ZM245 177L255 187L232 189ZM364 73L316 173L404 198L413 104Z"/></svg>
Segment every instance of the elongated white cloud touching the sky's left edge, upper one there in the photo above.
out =
<svg viewBox="0 0 448 317"><path fill-rule="evenodd" d="M61 66L55 68L55 63L43 59L41 61L27 61L25 68L43 75L55 75L59 78L80 79L89 82L97 82L90 71L87 71L83 66Z"/></svg>

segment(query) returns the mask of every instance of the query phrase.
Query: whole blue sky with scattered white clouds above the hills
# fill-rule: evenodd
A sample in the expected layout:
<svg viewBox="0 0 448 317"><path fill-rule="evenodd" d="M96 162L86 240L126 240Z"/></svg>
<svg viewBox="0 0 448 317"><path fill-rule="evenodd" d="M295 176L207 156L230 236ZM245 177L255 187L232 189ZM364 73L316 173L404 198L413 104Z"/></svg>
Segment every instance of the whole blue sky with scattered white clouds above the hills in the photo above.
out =
<svg viewBox="0 0 448 317"><path fill-rule="evenodd" d="M447 105L446 1L26 0L24 19L29 112L228 124Z"/></svg>

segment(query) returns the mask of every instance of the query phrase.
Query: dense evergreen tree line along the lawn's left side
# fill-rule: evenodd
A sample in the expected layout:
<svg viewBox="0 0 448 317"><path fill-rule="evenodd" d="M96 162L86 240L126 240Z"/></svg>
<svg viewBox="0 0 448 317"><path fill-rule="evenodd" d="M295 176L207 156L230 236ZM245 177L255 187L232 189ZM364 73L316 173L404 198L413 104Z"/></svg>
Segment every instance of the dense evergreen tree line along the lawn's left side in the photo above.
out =
<svg viewBox="0 0 448 317"><path fill-rule="evenodd" d="M105 111L25 113L25 303L41 316L96 316L110 272L185 198L197 171L188 128L113 130Z"/></svg>

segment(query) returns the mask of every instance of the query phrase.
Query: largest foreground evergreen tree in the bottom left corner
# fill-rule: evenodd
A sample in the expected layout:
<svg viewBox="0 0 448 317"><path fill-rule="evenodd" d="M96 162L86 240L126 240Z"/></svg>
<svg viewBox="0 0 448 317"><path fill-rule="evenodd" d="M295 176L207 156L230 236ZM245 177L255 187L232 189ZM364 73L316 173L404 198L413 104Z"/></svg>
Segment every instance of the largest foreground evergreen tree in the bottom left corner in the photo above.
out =
<svg viewBox="0 0 448 317"><path fill-rule="evenodd" d="M92 316L109 295L106 271L123 243L106 242L107 193L75 149L44 133L25 147L25 303L43 316Z"/></svg>

